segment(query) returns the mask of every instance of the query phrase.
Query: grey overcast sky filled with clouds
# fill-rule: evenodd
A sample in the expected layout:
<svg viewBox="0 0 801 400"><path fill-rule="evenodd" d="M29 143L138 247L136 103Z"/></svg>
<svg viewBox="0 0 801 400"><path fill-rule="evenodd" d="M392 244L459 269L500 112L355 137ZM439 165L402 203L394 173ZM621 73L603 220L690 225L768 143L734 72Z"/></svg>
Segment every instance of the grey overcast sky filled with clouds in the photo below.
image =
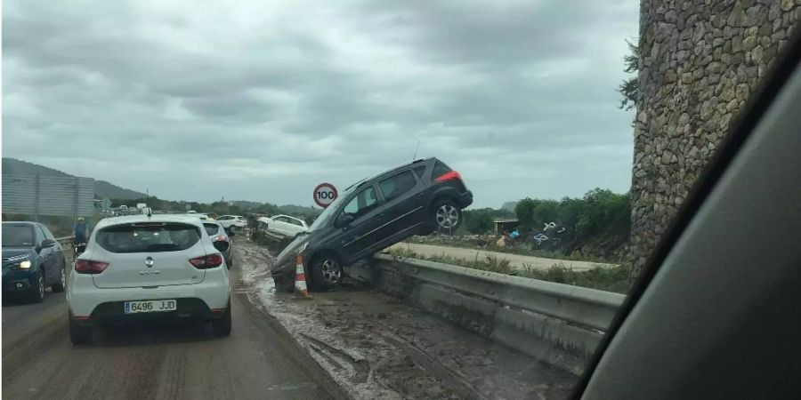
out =
<svg viewBox="0 0 801 400"><path fill-rule="evenodd" d="M623 192L638 4L6 0L3 156L171 200L308 205L419 140L475 206Z"/></svg>

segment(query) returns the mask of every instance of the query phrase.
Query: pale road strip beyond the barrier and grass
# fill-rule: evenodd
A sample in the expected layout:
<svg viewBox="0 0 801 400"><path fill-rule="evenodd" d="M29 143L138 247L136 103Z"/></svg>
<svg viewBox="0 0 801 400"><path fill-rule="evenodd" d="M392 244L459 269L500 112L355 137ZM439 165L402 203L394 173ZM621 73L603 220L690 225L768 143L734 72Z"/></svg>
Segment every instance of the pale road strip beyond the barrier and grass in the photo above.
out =
<svg viewBox="0 0 801 400"><path fill-rule="evenodd" d="M521 270L525 269L526 265L538 269L547 269L554 266L554 264L562 264L567 268L574 268L574 269L614 267L614 264L603 264L600 262L544 259L541 257L510 254L507 252L485 252L483 250L467 249L465 247L438 246L433 244L400 243L400 244L395 244L390 248L392 249L393 247L408 249L411 250L412 252L416 252L417 254L425 257L441 256L442 254L445 254L454 259L475 260L477 253L479 260L486 260L487 256L491 255L497 257L498 260L509 260L509 263L513 268Z"/></svg>

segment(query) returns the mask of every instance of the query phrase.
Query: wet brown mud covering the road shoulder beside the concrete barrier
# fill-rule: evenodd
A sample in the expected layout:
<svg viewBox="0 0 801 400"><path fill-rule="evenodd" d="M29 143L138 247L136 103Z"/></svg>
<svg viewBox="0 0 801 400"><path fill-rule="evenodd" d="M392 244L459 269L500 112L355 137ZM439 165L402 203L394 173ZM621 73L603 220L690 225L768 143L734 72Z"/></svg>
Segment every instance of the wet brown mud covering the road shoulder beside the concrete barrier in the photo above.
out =
<svg viewBox="0 0 801 400"><path fill-rule="evenodd" d="M564 398L577 378L359 282L279 293L271 252L234 246L248 297L354 398Z"/></svg>

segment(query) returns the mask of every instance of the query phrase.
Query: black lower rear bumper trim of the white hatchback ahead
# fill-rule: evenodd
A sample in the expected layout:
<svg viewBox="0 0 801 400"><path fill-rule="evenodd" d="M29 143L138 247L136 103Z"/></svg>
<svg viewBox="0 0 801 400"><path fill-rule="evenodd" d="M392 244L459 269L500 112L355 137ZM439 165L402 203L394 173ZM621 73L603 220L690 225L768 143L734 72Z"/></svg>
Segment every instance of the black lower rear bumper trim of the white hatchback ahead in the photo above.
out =
<svg viewBox="0 0 801 400"><path fill-rule="evenodd" d="M198 298L171 298L176 302L174 311L125 314L125 301L109 301L99 304L88 316L75 316L70 312L70 318L79 325L129 325L150 322L171 322L191 320L212 320L223 316L230 304L223 308L209 308L206 301ZM150 299L159 300L159 299ZM164 299L166 300L166 299Z"/></svg>

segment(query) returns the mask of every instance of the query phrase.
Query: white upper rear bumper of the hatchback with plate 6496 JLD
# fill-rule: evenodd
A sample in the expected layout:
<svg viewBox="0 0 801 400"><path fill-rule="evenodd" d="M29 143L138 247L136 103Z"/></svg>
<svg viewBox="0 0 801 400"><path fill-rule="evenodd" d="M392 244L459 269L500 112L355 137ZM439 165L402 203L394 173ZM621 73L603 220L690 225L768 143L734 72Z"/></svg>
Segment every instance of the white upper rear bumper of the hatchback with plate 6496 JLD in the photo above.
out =
<svg viewBox="0 0 801 400"><path fill-rule="evenodd" d="M134 300L179 300L195 299L202 301L206 308L226 308L231 297L231 287L228 278L215 279L209 276L199 284L174 284L152 288L125 287L113 289L99 289L94 284L73 284L67 289L69 312L73 316L92 316L97 308L108 303L120 303ZM219 272L219 271L217 271ZM91 279L89 280L91 281ZM70 281L73 283L74 281ZM181 314L181 305L177 313ZM103 308L108 306L102 306ZM123 306L119 306L122 312ZM192 308L194 309L194 308ZM154 313L157 314L157 313ZM134 316L129 314L127 316Z"/></svg>

